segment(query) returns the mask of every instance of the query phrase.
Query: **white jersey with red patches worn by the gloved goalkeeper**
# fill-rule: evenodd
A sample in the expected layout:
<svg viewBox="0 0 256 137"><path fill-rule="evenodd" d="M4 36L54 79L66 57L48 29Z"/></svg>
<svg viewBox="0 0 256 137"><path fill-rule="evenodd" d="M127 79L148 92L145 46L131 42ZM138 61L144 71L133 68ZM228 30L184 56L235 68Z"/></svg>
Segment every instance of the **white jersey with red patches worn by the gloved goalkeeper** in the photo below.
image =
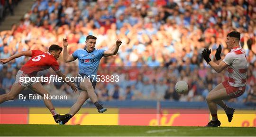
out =
<svg viewBox="0 0 256 137"><path fill-rule="evenodd" d="M247 78L247 59L245 50L240 47L231 49L223 61L229 65L229 85L232 87L243 87Z"/></svg>

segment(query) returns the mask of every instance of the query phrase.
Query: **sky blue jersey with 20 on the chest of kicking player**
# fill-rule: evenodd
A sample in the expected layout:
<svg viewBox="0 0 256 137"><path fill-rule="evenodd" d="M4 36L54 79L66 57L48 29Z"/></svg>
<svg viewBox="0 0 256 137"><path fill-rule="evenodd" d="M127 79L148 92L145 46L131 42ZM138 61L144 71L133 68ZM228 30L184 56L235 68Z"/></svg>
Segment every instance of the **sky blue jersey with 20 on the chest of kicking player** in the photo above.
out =
<svg viewBox="0 0 256 137"><path fill-rule="evenodd" d="M104 56L104 49L94 49L88 53L85 49L75 50L72 54L73 58L78 58L79 73L97 75L101 57Z"/></svg>

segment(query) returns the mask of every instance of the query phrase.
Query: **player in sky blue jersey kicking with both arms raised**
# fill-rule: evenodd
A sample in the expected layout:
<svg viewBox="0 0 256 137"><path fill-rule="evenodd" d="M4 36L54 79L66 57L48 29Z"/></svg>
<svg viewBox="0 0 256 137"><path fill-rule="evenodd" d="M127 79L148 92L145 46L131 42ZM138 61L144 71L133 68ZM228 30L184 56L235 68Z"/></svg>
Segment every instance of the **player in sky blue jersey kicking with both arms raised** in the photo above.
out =
<svg viewBox="0 0 256 137"><path fill-rule="evenodd" d="M85 48L78 49L73 52L72 55L68 55L67 46L68 42L67 39L63 39L63 57L64 62L72 62L76 59L79 60L79 73L78 76L81 77L80 80L77 81L77 86L79 88L80 95L76 101L76 103L71 107L69 113L62 115L64 117L64 121L60 124L65 124L69 121L82 107L83 103L90 98L94 105L97 107L99 113L105 112L107 109L104 108L102 105L98 103L98 97L94 92L96 86L96 80L91 79L91 76L97 75L99 63L101 57L103 56L112 56L116 55L119 49L119 46L122 44L121 40L116 41L116 45L110 50L104 49L95 49L97 38L95 36L89 35L86 37L85 41ZM90 77L90 81L88 81L87 77ZM84 80L83 78L87 78Z"/></svg>

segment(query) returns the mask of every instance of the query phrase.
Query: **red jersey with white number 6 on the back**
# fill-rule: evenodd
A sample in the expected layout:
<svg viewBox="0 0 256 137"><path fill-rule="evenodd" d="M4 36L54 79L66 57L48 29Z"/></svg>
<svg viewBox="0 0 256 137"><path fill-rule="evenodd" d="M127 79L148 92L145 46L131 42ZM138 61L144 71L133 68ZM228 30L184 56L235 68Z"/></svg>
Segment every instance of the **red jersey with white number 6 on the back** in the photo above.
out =
<svg viewBox="0 0 256 137"><path fill-rule="evenodd" d="M44 71L50 67L53 68L55 72L60 71L60 66L51 53L41 50L31 51L32 57L20 68L20 70L25 72L28 76L35 76L37 72Z"/></svg>

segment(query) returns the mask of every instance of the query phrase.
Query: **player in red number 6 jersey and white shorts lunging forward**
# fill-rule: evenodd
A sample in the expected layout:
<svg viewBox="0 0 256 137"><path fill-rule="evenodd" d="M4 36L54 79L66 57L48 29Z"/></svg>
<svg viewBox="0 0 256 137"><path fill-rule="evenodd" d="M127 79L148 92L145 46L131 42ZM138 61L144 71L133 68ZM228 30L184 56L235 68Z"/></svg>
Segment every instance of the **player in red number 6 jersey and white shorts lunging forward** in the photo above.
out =
<svg viewBox="0 0 256 137"><path fill-rule="evenodd" d="M60 57L61 52L62 48L60 46L51 45L48 49L48 52L43 52L41 50L27 50L14 54L9 58L0 59L1 64L6 64L20 56L31 57L30 60L19 69L18 73L16 74L16 81L13 83L10 91L0 96L0 104L7 100L13 100L18 95L18 93L20 93L26 87L33 90L35 93L41 95L42 97L50 95L40 82L21 81L21 79L24 77L36 77L39 71L44 71L50 67L59 77L62 77L62 79L65 80L64 82L72 88L73 92L76 92L77 89L75 85L70 81L66 81L66 76L60 71L57 59ZM56 123L59 123L61 120L63 120L55 111L55 108L50 99L44 97L44 103L52 113Z"/></svg>

